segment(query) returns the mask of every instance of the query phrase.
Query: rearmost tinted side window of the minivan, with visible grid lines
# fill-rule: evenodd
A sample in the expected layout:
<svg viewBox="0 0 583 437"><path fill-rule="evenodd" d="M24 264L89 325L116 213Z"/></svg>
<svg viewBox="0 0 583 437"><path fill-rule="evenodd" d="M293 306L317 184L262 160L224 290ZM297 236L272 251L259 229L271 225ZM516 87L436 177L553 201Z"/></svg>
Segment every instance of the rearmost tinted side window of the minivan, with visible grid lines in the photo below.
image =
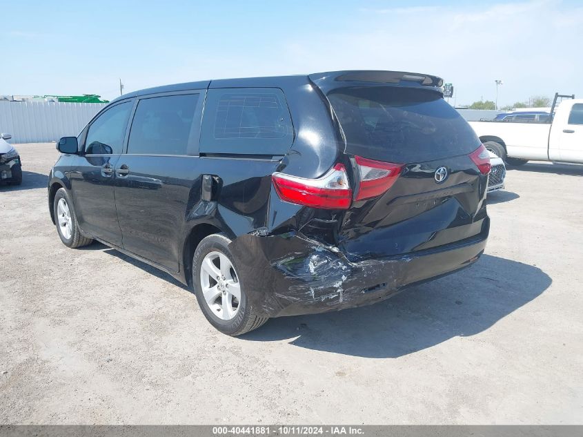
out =
<svg viewBox="0 0 583 437"><path fill-rule="evenodd" d="M293 126L279 88L209 90L201 131L201 152L284 155Z"/></svg>

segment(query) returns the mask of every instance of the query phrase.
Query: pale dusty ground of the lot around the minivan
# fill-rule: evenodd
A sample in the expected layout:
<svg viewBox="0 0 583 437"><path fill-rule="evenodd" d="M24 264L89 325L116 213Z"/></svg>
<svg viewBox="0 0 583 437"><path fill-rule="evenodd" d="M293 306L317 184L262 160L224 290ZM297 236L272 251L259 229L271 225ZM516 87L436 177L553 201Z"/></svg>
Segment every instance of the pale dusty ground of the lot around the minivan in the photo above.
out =
<svg viewBox="0 0 583 437"><path fill-rule="evenodd" d="M101 244L61 244L54 144L0 187L0 423L583 423L583 167L527 164L489 196L472 269L373 307L241 338Z"/></svg>

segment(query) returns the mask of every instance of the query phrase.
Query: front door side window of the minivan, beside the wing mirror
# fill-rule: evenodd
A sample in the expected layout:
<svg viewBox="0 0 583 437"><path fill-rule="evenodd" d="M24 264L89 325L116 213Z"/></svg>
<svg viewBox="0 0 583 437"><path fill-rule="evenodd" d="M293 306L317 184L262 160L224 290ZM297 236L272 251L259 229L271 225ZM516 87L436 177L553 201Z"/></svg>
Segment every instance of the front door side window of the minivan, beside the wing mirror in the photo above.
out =
<svg viewBox="0 0 583 437"><path fill-rule="evenodd" d="M132 101L126 101L101 113L89 126L85 152L90 155L119 155L132 106Z"/></svg>

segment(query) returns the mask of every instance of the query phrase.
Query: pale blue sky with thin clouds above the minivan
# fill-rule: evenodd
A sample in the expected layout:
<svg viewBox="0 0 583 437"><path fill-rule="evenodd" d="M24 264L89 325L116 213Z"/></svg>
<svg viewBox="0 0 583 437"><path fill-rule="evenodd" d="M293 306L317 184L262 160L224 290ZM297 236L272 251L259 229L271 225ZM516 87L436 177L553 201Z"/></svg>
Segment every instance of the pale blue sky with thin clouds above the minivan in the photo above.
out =
<svg viewBox="0 0 583 437"><path fill-rule="evenodd" d="M325 70L426 72L457 104L583 96L583 1L0 0L0 95L119 95Z"/></svg>

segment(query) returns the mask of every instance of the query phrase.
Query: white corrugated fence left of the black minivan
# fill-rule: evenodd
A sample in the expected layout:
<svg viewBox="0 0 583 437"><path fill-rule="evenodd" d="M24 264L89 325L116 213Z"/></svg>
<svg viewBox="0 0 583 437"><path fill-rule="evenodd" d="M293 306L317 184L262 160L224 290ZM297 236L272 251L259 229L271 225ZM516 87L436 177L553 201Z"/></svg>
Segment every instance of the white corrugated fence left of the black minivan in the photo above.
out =
<svg viewBox="0 0 583 437"><path fill-rule="evenodd" d="M0 132L10 143L39 143L75 137L106 106L100 103L0 101Z"/></svg>

